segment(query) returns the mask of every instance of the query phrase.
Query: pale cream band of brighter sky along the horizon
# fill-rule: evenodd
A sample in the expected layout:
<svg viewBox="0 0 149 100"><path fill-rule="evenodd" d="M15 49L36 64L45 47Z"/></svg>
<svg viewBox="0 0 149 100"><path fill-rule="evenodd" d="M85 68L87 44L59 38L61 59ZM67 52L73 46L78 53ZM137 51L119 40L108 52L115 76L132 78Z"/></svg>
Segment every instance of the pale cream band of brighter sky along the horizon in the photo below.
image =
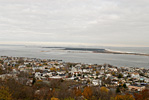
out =
<svg viewBox="0 0 149 100"><path fill-rule="evenodd" d="M24 46L55 46L55 47L149 47L146 45L124 45L124 44L97 44L97 43L72 43L72 42L22 42L22 41L7 41L0 42L0 45L24 45Z"/></svg>

